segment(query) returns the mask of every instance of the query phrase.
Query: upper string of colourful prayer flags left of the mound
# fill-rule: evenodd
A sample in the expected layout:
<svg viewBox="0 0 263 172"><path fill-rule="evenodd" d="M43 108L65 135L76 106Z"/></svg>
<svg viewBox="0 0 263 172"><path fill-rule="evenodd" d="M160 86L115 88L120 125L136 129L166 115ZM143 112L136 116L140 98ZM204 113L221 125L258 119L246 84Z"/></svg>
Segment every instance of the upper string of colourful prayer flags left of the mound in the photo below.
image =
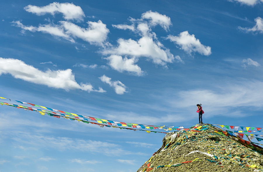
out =
<svg viewBox="0 0 263 172"><path fill-rule="evenodd" d="M0 97L0 98L6 99L4 97ZM98 123L101 123L101 124L108 123L108 125L113 125L113 126L123 126L123 127L131 127L131 128L142 128L142 129L146 128L146 129L150 129L150 130L152 130L152 129L160 129L160 130L162 130L163 129L165 131L183 130L184 129L184 127L182 127L182 126L181 127L174 127L174 126L173 127L165 127L165 126L156 126L156 125L144 125L144 124L117 122L117 121L112 121L112 120L105 120L105 119L100 119L100 118L94 118L94 117L89 117L89 116L84 116L84 115L73 114L73 113L70 113L70 112L60 111L60 110L57 110L57 109L52 109L52 108L49 108L49 107L39 106L39 105L32 104L32 103L21 102L21 101L18 101L18 100L15 100L15 101L19 102L21 104L30 104L30 105L32 105L34 107L41 107L43 109L49 109L52 112L55 111L55 112L67 114L67 115L70 115L70 116L73 115L73 116L77 116L77 117L81 117L81 118L83 118L83 117L90 118L91 120L97 121ZM185 129L185 130L187 130L187 129Z"/></svg>

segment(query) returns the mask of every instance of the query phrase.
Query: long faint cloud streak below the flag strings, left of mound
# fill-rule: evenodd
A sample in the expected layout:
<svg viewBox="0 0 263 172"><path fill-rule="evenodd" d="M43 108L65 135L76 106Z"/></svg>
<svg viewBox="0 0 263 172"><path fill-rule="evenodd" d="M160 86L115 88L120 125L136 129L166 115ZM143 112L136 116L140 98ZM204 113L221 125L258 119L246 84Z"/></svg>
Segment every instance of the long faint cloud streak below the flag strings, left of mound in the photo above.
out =
<svg viewBox="0 0 263 172"><path fill-rule="evenodd" d="M93 141L93 140L84 140L68 137L54 137L41 134L33 134L28 132L11 132L10 135L14 134L12 137L19 145L27 145L31 147L39 147L50 149L49 145L56 145L56 150L65 151L74 149L81 152L89 153L101 153L107 156L120 156L120 155L131 155L131 154L141 154L131 151L126 151L120 148L120 145L102 142L102 141ZM78 145L78 146L76 146Z"/></svg>

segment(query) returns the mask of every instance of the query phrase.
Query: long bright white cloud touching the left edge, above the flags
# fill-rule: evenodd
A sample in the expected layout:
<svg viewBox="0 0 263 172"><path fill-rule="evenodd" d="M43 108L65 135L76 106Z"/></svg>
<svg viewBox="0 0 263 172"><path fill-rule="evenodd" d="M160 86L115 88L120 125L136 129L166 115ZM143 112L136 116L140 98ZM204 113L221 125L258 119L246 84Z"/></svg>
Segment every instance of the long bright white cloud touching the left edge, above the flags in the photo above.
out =
<svg viewBox="0 0 263 172"><path fill-rule="evenodd" d="M91 84L78 84L71 69L46 70L45 72L34 68L25 62L13 58L0 57L0 75L11 74L13 77L23 79L35 84L46 85L51 88L62 88L65 90L81 89L84 91L105 92L102 88L94 90Z"/></svg>

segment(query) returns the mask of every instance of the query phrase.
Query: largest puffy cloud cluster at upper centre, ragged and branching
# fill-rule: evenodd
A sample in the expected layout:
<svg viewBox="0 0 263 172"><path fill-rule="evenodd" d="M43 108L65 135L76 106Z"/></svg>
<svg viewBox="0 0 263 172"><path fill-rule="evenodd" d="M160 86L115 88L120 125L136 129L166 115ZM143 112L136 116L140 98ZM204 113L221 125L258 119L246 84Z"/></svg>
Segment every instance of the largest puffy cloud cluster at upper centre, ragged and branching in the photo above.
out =
<svg viewBox="0 0 263 172"><path fill-rule="evenodd" d="M175 56L158 40L152 28L160 25L166 31L172 25L170 17L162 15L158 12L147 11L141 15L140 19L129 17L131 25L118 24L113 25L117 29L129 29L141 36L139 40L123 39L117 40L116 46L108 46L102 50L102 54L108 56L109 65L111 68L123 72L141 76L143 71L135 64L140 58L147 58L153 63L167 67L167 63L174 61L182 62L179 56Z"/></svg>

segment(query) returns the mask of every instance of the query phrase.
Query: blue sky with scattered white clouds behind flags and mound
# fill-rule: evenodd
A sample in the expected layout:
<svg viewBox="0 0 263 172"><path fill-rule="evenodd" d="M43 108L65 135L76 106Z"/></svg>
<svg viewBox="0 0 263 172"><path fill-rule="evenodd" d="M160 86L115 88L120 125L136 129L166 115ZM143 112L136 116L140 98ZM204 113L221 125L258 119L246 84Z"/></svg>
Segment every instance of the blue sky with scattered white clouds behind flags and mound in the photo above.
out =
<svg viewBox="0 0 263 172"><path fill-rule="evenodd" d="M263 127L263 1L1 1L1 97L96 118ZM9 101L9 100L8 100ZM1 106L0 171L136 171L162 133ZM257 142L257 141L255 141Z"/></svg>

